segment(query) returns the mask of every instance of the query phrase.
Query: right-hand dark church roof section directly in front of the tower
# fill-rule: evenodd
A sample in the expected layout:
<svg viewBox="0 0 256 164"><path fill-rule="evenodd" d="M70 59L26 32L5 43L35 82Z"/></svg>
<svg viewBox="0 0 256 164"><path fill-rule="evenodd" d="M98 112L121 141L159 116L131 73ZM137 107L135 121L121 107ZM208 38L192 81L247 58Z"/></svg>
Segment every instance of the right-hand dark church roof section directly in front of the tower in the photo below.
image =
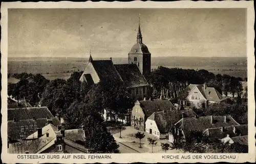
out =
<svg viewBox="0 0 256 164"><path fill-rule="evenodd" d="M136 64L115 64L114 66L127 87L148 86Z"/></svg>

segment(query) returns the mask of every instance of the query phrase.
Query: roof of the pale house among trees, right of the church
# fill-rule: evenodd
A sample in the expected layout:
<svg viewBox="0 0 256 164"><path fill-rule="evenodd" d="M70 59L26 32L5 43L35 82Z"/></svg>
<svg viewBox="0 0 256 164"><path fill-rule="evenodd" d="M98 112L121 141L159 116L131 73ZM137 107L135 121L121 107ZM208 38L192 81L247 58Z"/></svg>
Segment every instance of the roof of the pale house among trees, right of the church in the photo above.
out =
<svg viewBox="0 0 256 164"><path fill-rule="evenodd" d="M226 98L223 97L215 88L207 87L206 85L188 85L178 96L179 99L186 99L189 93L197 87L203 97L208 101L223 101Z"/></svg>

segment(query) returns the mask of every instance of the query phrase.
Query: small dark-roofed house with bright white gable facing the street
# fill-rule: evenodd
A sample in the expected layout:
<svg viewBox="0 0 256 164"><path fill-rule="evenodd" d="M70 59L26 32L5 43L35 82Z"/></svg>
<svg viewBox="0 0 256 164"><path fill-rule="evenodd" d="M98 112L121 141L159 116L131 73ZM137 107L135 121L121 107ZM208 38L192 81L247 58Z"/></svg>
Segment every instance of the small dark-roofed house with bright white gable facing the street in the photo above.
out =
<svg viewBox="0 0 256 164"><path fill-rule="evenodd" d="M182 118L196 118L193 110L168 110L154 112L145 122L146 132L158 139L168 138L170 128Z"/></svg>

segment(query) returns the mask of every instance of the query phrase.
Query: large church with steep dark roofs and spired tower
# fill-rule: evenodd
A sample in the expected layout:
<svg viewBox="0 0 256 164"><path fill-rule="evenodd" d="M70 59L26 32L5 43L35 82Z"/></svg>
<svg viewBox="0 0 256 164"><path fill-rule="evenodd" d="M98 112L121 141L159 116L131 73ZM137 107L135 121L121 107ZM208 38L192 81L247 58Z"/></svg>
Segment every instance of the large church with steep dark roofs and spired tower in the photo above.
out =
<svg viewBox="0 0 256 164"><path fill-rule="evenodd" d="M137 43L128 53L128 64L113 64L110 60L93 60L91 52L87 67L84 69L80 81L87 84L97 84L100 80L123 81L134 100L148 97L149 85L146 78L151 72L151 53L142 42L140 23Z"/></svg>

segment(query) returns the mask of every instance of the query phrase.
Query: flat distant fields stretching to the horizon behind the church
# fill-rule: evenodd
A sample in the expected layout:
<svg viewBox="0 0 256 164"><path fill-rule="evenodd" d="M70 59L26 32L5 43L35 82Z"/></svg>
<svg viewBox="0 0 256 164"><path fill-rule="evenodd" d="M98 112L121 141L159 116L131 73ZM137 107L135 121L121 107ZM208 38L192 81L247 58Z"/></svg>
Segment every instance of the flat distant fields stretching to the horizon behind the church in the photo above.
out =
<svg viewBox="0 0 256 164"><path fill-rule="evenodd" d="M109 60L109 59L94 59ZM126 58L113 58L115 64L127 63ZM41 73L47 79L68 79L72 72L86 68L88 59L78 58L9 58L8 73ZM246 58L198 58L198 57L161 57L152 58L152 69L158 66L183 69L205 69L215 74L228 74L235 77L246 77Z"/></svg>

